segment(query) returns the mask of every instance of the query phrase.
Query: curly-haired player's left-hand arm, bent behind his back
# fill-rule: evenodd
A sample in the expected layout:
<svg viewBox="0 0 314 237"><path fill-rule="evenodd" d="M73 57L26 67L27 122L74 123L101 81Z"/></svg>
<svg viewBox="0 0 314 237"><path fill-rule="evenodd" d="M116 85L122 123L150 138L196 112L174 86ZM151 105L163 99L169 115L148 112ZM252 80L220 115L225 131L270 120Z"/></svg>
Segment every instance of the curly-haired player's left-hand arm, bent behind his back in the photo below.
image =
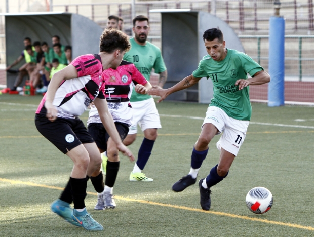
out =
<svg viewBox="0 0 314 237"><path fill-rule="evenodd" d="M69 80L77 77L76 68L73 65L68 65L62 70L56 72L49 83L49 87L46 95L45 107L47 109L46 117L51 121L55 121L57 119L57 108L52 104L56 91L59 88L60 84L64 80Z"/></svg>

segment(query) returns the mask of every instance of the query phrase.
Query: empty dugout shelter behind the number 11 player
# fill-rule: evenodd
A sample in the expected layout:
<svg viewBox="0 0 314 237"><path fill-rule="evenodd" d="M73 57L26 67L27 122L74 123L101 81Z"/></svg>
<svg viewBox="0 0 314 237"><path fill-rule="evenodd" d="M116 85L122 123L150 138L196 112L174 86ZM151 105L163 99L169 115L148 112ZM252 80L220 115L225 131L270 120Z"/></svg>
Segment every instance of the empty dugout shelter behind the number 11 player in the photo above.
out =
<svg viewBox="0 0 314 237"><path fill-rule="evenodd" d="M168 71L164 88L172 87L198 68L200 60L207 55L203 41L203 33L207 29L219 28L223 32L226 48L245 52L233 29L210 13L190 9L150 12L160 12L162 18L162 54ZM173 93L167 99L210 103L212 97L213 83L203 78L197 85Z"/></svg>

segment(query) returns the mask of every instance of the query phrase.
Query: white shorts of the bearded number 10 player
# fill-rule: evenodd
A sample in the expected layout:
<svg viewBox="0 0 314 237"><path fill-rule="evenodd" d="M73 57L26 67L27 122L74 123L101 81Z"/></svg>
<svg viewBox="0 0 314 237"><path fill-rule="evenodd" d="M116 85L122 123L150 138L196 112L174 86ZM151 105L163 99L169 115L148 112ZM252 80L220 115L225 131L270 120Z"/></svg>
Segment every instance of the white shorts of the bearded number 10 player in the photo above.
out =
<svg viewBox="0 0 314 237"><path fill-rule="evenodd" d="M128 134L137 133L137 124L142 131L150 128L161 128L159 113L153 98L143 101L131 102L133 120Z"/></svg>

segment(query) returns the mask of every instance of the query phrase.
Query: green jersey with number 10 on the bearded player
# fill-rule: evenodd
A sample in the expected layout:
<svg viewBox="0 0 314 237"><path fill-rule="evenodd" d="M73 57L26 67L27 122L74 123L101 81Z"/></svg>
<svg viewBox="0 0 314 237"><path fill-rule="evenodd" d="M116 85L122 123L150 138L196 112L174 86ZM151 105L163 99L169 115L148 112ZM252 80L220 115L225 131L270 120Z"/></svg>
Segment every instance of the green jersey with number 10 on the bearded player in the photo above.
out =
<svg viewBox="0 0 314 237"><path fill-rule="evenodd" d="M146 41L145 45L139 45L134 38L130 38L130 43L131 49L124 55L123 59L133 63L148 82L152 68L155 69L155 73L166 71L164 59L157 46L148 41ZM136 93L133 88L130 101L143 101L149 98L151 98L150 95Z"/></svg>

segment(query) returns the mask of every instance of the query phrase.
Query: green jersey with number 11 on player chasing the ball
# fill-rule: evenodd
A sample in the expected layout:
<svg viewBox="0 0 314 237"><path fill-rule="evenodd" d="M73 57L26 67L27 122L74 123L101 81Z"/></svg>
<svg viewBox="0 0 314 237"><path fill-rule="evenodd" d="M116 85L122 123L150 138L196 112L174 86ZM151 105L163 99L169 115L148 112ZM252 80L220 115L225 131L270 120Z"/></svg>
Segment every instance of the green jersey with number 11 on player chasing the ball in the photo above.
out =
<svg viewBox="0 0 314 237"><path fill-rule="evenodd" d="M215 61L206 55L199 63L194 77L207 77L214 85L214 96L209 106L216 106L226 112L229 117L237 120L250 120L252 107L249 97L249 87L239 90L235 82L247 79L247 73L253 76L264 70L258 63L245 53L227 49L226 57Z"/></svg>

